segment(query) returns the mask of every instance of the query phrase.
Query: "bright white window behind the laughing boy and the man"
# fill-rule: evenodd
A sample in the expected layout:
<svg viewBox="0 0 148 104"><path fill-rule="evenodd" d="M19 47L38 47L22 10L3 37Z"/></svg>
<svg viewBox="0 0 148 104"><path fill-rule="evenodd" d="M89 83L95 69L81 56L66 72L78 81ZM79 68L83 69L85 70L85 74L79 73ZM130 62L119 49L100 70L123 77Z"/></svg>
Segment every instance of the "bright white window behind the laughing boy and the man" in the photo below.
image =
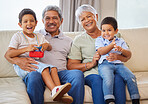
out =
<svg viewBox="0 0 148 104"><path fill-rule="evenodd" d="M38 24L35 30L44 28L42 11L47 5L59 6L59 0L1 0L0 30L21 30L18 15L24 8L30 8L36 13Z"/></svg>

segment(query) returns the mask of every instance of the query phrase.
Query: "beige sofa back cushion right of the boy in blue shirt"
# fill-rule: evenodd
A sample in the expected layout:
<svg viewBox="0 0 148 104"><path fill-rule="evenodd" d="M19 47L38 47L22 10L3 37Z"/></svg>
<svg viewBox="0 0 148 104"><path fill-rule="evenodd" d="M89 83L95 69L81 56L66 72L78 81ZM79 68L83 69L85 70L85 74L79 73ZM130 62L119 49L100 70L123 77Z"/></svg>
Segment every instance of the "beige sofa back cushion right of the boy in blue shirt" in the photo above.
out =
<svg viewBox="0 0 148 104"><path fill-rule="evenodd" d="M148 72L148 28L124 29L119 30L119 32L132 51L132 57L125 65L133 72Z"/></svg>

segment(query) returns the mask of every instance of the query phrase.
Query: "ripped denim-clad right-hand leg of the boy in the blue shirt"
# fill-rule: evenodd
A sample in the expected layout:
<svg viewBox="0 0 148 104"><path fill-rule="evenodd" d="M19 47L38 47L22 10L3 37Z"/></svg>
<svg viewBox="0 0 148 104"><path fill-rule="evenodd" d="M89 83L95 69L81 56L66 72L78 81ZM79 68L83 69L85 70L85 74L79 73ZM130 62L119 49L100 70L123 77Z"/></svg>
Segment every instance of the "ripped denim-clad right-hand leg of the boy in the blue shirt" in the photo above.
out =
<svg viewBox="0 0 148 104"><path fill-rule="evenodd" d="M117 68L118 68L117 72L127 82L127 88L130 93L131 99L132 100L133 99L140 99L135 75L123 64L117 65Z"/></svg>

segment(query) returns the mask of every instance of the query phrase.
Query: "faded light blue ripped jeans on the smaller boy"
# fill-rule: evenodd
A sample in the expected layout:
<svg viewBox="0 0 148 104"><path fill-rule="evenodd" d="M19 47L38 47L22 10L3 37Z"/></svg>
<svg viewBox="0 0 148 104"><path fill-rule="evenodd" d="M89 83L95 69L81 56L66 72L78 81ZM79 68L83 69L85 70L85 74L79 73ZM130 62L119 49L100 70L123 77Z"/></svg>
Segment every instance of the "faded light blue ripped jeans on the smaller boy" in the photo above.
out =
<svg viewBox="0 0 148 104"><path fill-rule="evenodd" d="M122 63L109 63L107 60L99 65L99 73L103 78L103 92L105 99L114 99L114 73L119 74L127 83L131 99L139 99L139 92L134 74Z"/></svg>

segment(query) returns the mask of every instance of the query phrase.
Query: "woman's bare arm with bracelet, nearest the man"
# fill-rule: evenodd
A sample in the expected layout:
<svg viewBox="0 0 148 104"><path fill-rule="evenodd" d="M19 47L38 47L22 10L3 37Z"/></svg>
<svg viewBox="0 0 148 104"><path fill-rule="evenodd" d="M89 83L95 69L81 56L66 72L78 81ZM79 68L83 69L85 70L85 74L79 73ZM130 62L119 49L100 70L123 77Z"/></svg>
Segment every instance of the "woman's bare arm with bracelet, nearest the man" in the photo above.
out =
<svg viewBox="0 0 148 104"><path fill-rule="evenodd" d="M81 60L68 59L67 68L68 70L78 69L82 72L89 70L97 65L100 55L96 52L91 62L81 63Z"/></svg>

